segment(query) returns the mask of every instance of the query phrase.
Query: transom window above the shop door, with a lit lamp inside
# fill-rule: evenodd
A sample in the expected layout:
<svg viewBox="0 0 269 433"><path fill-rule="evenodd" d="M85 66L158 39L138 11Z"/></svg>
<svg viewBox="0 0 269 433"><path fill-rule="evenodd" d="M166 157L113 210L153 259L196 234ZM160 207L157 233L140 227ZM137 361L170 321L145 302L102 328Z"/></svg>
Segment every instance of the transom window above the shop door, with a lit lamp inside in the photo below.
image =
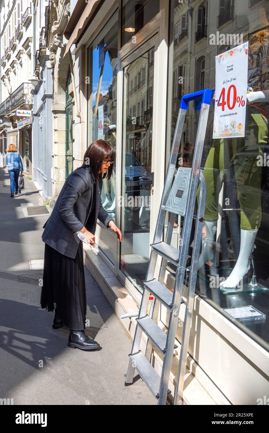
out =
<svg viewBox="0 0 269 433"><path fill-rule="evenodd" d="M121 46L126 44L160 11L160 0L123 0Z"/></svg>

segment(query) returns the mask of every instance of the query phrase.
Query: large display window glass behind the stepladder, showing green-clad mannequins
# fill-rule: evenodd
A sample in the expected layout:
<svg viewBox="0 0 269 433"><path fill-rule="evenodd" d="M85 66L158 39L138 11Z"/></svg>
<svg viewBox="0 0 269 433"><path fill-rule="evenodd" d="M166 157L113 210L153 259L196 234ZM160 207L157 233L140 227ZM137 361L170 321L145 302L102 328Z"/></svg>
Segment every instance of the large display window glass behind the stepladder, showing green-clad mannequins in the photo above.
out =
<svg viewBox="0 0 269 433"><path fill-rule="evenodd" d="M182 19L187 13L188 23ZM174 17L170 29L170 40L174 41L170 44L173 60L169 65L171 143L181 94L205 87L214 90L215 56L249 42L246 91L250 92L248 97L252 97L252 103L248 100L246 103L245 136L212 139L213 101L209 109L201 162L207 193L196 293L230 320L233 319L226 308L252 306L261 311L265 319L233 321L268 349L269 168L266 162L269 160L269 3L221 0L198 5L190 2L189 7L188 2L174 0L171 16ZM184 29L188 29L188 38L180 37L182 28L178 31L174 25L180 21L184 22ZM219 40L220 43L210 44L210 35L220 32L219 27L225 35L239 35L240 42L228 36L223 43ZM178 90L179 82L182 88ZM263 101L256 100L255 92L258 91L265 95ZM190 104L181 137L178 166L192 166L198 122L196 114ZM169 153L170 149L167 161ZM183 218L176 218L176 223L173 246L179 245ZM193 236L190 256L192 240ZM168 269L175 272L171 263L168 263ZM253 285L255 282L256 286Z"/></svg>

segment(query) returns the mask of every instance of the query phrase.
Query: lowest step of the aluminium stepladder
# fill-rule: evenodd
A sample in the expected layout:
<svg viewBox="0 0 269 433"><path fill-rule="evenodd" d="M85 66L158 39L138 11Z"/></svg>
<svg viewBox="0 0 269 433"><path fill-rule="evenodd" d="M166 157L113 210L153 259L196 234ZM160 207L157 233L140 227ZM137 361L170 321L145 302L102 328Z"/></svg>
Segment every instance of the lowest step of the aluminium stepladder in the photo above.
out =
<svg viewBox="0 0 269 433"><path fill-rule="evenodd" d="M129 356L137 372L141 376L142 380L146 383L149 390L156 398L159 398L161 378L156 370L154 370L151 363L146 359L146 356L144 356L141 351ZM168 389L167 394L170 393L171 391Z"/></svg>

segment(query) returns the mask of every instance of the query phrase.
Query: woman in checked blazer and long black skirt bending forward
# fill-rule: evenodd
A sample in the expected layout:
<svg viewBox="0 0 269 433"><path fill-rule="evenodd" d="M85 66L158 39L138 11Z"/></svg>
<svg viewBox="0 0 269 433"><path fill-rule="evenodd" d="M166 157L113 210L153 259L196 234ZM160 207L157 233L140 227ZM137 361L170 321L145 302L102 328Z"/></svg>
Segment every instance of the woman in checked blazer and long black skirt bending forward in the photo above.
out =
<svg viewBox="0 0 269 433"><path fill-rule="evenodd" d="M53 328L70 328L68 346L82 350L99 344L85 334L86 290L82 232L95 247L96 222L110 227L121 241L120 229L101 204L102 178L111 178L116 152L104 140L96 140L86 150L83 164L67 178L53 211L44 224L44 274L41 308L55 310ZM56 307L55 307L56 304Z"/></svg>

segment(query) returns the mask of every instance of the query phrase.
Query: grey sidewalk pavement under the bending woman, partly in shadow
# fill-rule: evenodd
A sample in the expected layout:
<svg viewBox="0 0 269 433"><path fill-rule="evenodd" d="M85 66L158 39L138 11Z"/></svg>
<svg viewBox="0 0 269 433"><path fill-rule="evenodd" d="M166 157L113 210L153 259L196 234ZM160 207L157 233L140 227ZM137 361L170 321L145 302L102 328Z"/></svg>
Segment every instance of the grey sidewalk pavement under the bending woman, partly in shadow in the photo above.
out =
<svg viewBox="0 0 269 433"><path fill-rule="evenodd" d="M138 375L124 386L132 342L86 268L85 332L100 349L71 349L69 329L52 329L54 313L40 308L43 271L29 265L44 259L41 234L49 215L25 216L21 203L44 203L24 180L22 194L11 198L8 172L0 168L0 398L13 398L14 405L156 404Z"/></svg>

